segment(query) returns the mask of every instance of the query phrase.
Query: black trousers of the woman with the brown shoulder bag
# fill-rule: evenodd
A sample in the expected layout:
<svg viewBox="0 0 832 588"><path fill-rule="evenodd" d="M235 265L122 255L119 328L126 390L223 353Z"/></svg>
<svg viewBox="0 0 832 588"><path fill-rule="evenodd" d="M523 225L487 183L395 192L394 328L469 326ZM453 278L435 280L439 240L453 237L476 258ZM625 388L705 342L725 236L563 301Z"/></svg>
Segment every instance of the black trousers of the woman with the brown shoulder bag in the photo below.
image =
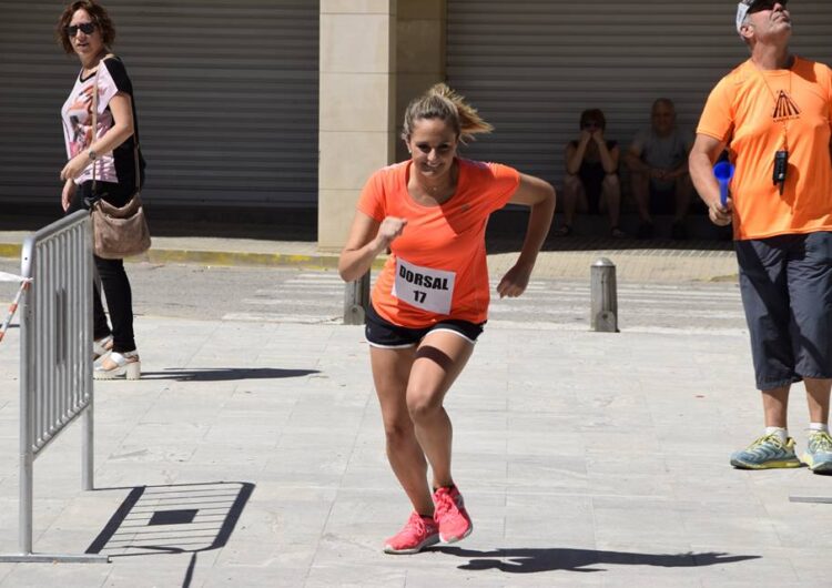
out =
<svg viewBox="0 0 832 588"><path fill-rule="evenodd" d="M67 214L87 209L89 210L93 197L102 197L114 206L123 206L132 197L134 187L122 189L119 184L98 182L95 196L92 193L92 182L84 182L78 190L67 210ZM92 312L93 312L93 337L97 339L110 334L113 336L113 351L126 353L135 351L135 336L133 334L133 293L130 290L130 281L124 272L123 260L104 260L93 255L95 271L106 296L106 308L110 312L112 328L106 322L104 306L101 303L101 292L93 284Z"/></svg>

